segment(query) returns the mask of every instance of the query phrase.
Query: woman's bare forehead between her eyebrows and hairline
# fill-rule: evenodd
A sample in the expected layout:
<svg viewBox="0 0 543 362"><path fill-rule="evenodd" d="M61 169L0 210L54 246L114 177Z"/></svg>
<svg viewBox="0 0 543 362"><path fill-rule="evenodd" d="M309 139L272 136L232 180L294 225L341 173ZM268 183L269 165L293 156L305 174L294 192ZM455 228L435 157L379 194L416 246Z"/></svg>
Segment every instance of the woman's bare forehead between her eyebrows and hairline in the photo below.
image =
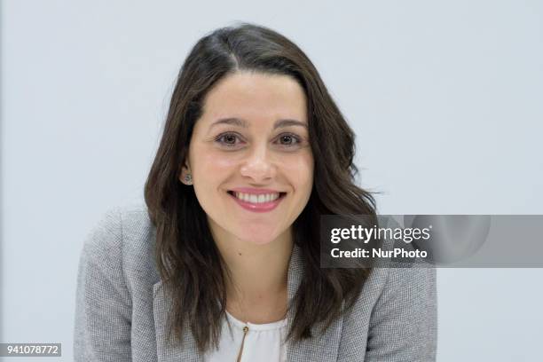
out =
<svg viewBox="0 0 543 362"><path fill-rule="evenodd" d="M208 92L203 122L238 117L248 122L275 122L280 118L306 122L303 88L287 75L240 72L227 75Z"/></svg>

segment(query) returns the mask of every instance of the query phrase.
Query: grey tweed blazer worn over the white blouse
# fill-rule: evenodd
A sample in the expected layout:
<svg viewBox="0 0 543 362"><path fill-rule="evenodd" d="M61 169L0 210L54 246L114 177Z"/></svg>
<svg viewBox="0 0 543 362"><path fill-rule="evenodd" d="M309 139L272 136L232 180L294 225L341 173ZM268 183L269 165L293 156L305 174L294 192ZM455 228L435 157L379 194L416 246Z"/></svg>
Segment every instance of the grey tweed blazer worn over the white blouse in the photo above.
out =
<svg viewBox="0 0 543 362"><path fill-rule="evenodd" d="M166 342L169 299L153 262L156 231L145 204L109 209L84 241L77 275L75 361L202 361L193 336ZM288 266L288 300L303 279L300 249ZM287 315L287 328L292 314ZM321 326L319 326L321 327ZM287 360L435 361L434 268L375 268L348 315Z"/></svg>

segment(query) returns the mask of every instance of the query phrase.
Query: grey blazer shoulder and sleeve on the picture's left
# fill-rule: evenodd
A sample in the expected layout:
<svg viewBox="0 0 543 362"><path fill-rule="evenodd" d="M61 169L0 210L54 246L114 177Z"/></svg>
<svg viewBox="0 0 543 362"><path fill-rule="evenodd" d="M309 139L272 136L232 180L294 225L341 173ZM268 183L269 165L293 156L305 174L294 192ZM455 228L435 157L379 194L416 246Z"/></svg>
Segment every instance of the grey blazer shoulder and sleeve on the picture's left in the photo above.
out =
<svg viewBox="0 0 543 362"><path fill-rule="evenodd" d="M152 229L142 205L106 209L92 223L77 273L75 360L130 357L130 327L153 295Z"/></svg>

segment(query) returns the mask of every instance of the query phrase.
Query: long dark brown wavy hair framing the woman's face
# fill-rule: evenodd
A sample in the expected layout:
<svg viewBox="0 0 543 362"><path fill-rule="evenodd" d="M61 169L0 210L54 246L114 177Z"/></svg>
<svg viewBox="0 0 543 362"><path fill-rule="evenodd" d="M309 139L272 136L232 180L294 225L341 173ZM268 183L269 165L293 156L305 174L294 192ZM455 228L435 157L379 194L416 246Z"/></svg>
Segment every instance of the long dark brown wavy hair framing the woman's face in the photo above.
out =
<svg viewBox="0 0 543 362"><path fill-rule="evenodd" d="M371 193L355 185L355 135L304 52L270 28L241 22L218 28L194 46L177 76L161 143L145 185L145 201L156 226L155 260L163 287L173 295L170 333L181 341L190 327L204 352L221 333L226 306L225 265L192 186L179 181L202 101L217 81L240 71L287 75L305 92L315 168L310 199L292 225L301 248L304 278L288 310L294 320L287 339L311 338L311 327L327 329L358 299L369 268L320 268L322 215L367 215L376 223ZM218 303L217 303L218 302ZM345 303L345 309L342 309Z"/></svg>

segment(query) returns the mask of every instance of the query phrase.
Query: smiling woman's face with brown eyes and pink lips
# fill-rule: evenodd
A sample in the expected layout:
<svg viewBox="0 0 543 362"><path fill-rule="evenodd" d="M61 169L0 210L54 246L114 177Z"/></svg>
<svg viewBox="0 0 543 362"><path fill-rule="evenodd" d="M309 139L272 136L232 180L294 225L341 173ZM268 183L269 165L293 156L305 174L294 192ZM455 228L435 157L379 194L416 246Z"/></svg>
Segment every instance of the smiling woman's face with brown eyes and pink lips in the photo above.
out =
<svg viewBox="0 0 543 362"><path fill-rule="evenodd" d="M290 232L313 185L306 107L287 75L236 73L209 91L180 180L191 173L214 236L262 245Z"/></svg>

